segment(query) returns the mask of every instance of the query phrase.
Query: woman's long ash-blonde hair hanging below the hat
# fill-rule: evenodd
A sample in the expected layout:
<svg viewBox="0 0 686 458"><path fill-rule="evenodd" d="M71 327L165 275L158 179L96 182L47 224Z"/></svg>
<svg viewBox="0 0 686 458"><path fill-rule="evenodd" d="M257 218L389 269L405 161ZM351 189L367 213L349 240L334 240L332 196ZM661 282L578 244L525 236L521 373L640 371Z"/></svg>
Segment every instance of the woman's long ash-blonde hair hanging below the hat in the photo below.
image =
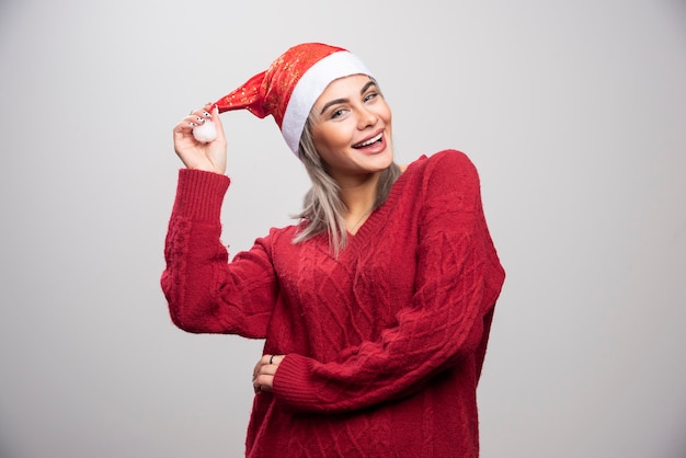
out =
<svg viewBox="0 0 686 458"><path fill-rule="evenodd" d="M319 152L315 148L311 131L312 121L313 115L310 112L305 123L299 147L300 160L310 176L312 187L305 195L302 211L294 216L294 218L306 219L309 222L294 238L293 242L300 243L327 231L329 234L329 247L332 248L334 255L338 256L341 250L347 247L347 228L345 227L344 217L347 208L341 199L341 188L335 180L324 170ZM396 162L392 162L388 169L381 171L373 210L386 202L400 173L400 168Z"/></svg>

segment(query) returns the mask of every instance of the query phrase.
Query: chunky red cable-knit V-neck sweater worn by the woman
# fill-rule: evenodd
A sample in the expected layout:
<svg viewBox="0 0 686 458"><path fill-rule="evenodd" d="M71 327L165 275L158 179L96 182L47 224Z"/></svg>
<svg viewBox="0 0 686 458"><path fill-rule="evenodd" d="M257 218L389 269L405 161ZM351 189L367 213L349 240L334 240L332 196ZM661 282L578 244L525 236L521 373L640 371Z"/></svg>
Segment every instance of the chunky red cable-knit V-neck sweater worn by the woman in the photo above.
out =
<svg viewBox="0 0 686 458"><path fill-rule="evenodd" d="M338 259L272 229L228 262L229 179L181 170L162 288L190 332L285 354L248 457L477 457L477 383L504 271L469 159L421 157ZM256 359L256 358L255 358Z"/></svg>

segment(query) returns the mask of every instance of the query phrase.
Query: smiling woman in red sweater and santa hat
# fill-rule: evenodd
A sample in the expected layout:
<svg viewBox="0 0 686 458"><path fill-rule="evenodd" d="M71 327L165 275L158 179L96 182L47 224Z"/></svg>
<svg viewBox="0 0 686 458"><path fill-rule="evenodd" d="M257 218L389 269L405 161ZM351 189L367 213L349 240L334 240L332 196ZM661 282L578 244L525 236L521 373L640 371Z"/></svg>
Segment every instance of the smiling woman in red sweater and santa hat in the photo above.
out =
<svg viewBox="0 0 686 458"><path fill-rule="evenodd" d="M219 113L272 115L312 181L296 225L230 262ZM216 126L202 142L194 128ZM504 271L455 150L393 162L391 111L345 49L294 46L174 127L172 320L265 339L249 457L477 457L476 389ZM241 217L235 215L233 217Z"/></svg>

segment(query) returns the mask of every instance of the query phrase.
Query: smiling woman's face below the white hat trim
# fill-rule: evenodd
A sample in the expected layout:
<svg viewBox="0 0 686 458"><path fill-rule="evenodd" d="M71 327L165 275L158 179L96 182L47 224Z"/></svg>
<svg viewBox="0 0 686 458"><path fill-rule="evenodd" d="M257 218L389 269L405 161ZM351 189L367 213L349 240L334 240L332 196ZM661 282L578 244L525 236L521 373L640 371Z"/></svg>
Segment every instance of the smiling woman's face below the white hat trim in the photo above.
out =
<svg viewBox="0 0 686 458"><path fill-rule="evenodd" d="M391 112L369 77L334 80L312 110L312 140L333 179L361 178L391 164Z"/></svg>

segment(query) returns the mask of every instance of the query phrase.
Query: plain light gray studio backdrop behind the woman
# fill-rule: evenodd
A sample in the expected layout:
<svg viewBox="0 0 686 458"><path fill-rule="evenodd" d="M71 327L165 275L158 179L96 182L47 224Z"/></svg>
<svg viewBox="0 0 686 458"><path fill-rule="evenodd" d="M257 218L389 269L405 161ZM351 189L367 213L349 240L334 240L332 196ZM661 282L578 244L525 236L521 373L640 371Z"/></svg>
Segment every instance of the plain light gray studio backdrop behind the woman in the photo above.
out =
<svg viewBox="0 0 686 458"><path fill-rule="evenodd" d="M0 456L238 457L262 342L192 335L159 287L173 125L288 46L376 72L400 162L466 151L507 280L484 458L686 456L686 4L0 3ZM222 115L231 252L308 181Z"/></svg>

